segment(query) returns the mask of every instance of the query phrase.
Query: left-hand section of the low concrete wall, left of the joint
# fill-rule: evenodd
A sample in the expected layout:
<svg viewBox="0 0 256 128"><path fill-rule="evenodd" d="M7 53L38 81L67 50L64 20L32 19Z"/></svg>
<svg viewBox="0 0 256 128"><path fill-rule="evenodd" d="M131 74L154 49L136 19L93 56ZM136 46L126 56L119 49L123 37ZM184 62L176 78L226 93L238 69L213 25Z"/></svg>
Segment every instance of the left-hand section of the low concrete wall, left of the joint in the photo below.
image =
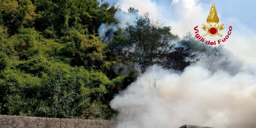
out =
<svg viewBox="0 0 256 128"><path fill-rule="evenodd" d="M0 115L0 128L59 128L59 118Z"/></svg>

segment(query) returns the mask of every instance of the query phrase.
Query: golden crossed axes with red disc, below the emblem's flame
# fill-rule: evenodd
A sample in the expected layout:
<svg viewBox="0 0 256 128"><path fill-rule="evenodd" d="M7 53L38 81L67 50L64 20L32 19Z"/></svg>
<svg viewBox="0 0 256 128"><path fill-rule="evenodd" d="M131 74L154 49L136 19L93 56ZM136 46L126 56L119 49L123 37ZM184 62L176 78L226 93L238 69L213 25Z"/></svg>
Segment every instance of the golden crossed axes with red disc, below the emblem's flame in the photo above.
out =
<svg viewBox="0 0 256 128"><path fill-rule="evenodd" d="M207 31L207 33L205 33L205 34L203 35L203 37L207 36L208 34L209 34L209 35L212 35L212 36L218 35L219 37L222 37L222 34L218 33L218 31L222 31L222 30L225 28L225 27L223 27L223 26L224 26L224 24L218 24L218 27L216 27L215 25L211 25L211 26L209 27L208 25L203 24L202 29L203 29L204 31Z"/></svg>

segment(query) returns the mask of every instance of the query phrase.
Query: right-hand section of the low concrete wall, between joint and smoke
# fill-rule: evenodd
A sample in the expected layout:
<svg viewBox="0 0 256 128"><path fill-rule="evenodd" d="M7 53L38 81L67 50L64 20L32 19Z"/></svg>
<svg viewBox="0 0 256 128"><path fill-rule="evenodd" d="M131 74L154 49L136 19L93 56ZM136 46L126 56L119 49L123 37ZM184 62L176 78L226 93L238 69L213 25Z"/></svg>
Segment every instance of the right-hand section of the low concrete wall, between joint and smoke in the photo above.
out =
<svg viewBox="0 0 256 128"><path fill-rule="evenodd" d="M114 128L112 120L61 119L61 128Z"/></svg>

